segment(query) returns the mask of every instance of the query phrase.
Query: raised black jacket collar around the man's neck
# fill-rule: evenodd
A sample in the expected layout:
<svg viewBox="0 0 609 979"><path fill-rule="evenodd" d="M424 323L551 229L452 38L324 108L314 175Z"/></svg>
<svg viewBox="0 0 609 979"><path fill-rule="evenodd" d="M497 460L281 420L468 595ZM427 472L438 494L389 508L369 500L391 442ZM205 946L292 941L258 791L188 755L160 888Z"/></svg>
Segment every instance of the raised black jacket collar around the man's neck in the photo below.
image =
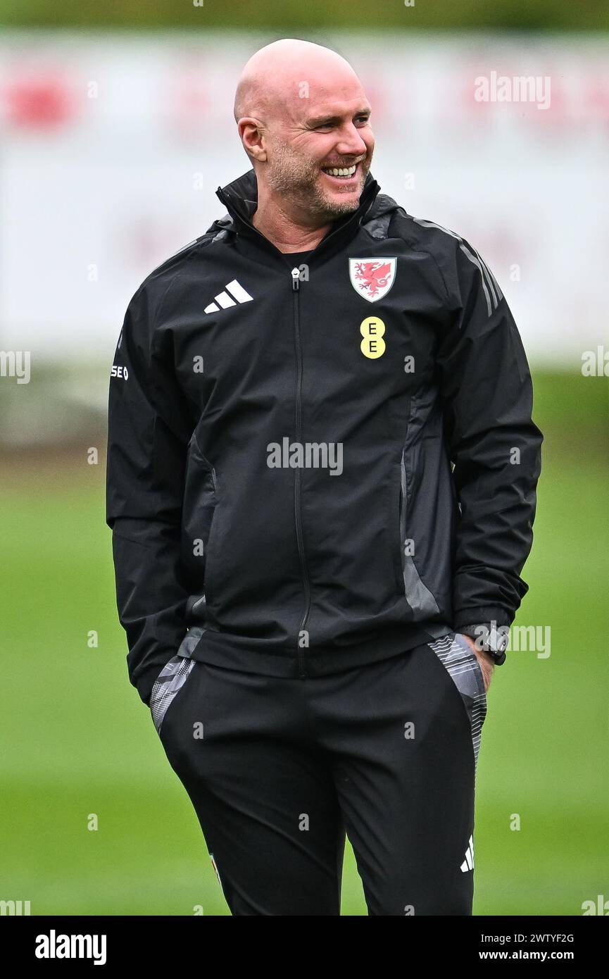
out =
<svg viewBox="0 0 609 979"><path fill-rule="evenodd" d="M343 245L351 241L362 217L371 208L380 189L380 184L368 172L357 209L332 222L328 232L310 257L317 256L322 252L338 251ZM282 254L252 223L252 217L258 207L258 183L254 168L226 184L225 187L218 187L215 194L230 214L235 228L240 234L257 240L258 244L276 254ZM283 253L283 255L289 258L287 253Z"/></svg>

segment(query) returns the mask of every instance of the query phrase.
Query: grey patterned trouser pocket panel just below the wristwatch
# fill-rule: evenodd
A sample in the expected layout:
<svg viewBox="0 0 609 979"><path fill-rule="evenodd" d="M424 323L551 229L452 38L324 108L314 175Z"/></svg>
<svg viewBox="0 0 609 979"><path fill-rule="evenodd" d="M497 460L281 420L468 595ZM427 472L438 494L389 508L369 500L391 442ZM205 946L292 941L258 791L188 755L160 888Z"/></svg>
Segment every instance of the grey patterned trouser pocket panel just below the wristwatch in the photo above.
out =
<svg viewBox="0 0 609 979"><path fill-rule="evenodd" d="M427 645L445 667L461 697L472 731L475 764L478 764L482 726L487 717L485 678L478 657L460 632L448 632Z"/></svg>

